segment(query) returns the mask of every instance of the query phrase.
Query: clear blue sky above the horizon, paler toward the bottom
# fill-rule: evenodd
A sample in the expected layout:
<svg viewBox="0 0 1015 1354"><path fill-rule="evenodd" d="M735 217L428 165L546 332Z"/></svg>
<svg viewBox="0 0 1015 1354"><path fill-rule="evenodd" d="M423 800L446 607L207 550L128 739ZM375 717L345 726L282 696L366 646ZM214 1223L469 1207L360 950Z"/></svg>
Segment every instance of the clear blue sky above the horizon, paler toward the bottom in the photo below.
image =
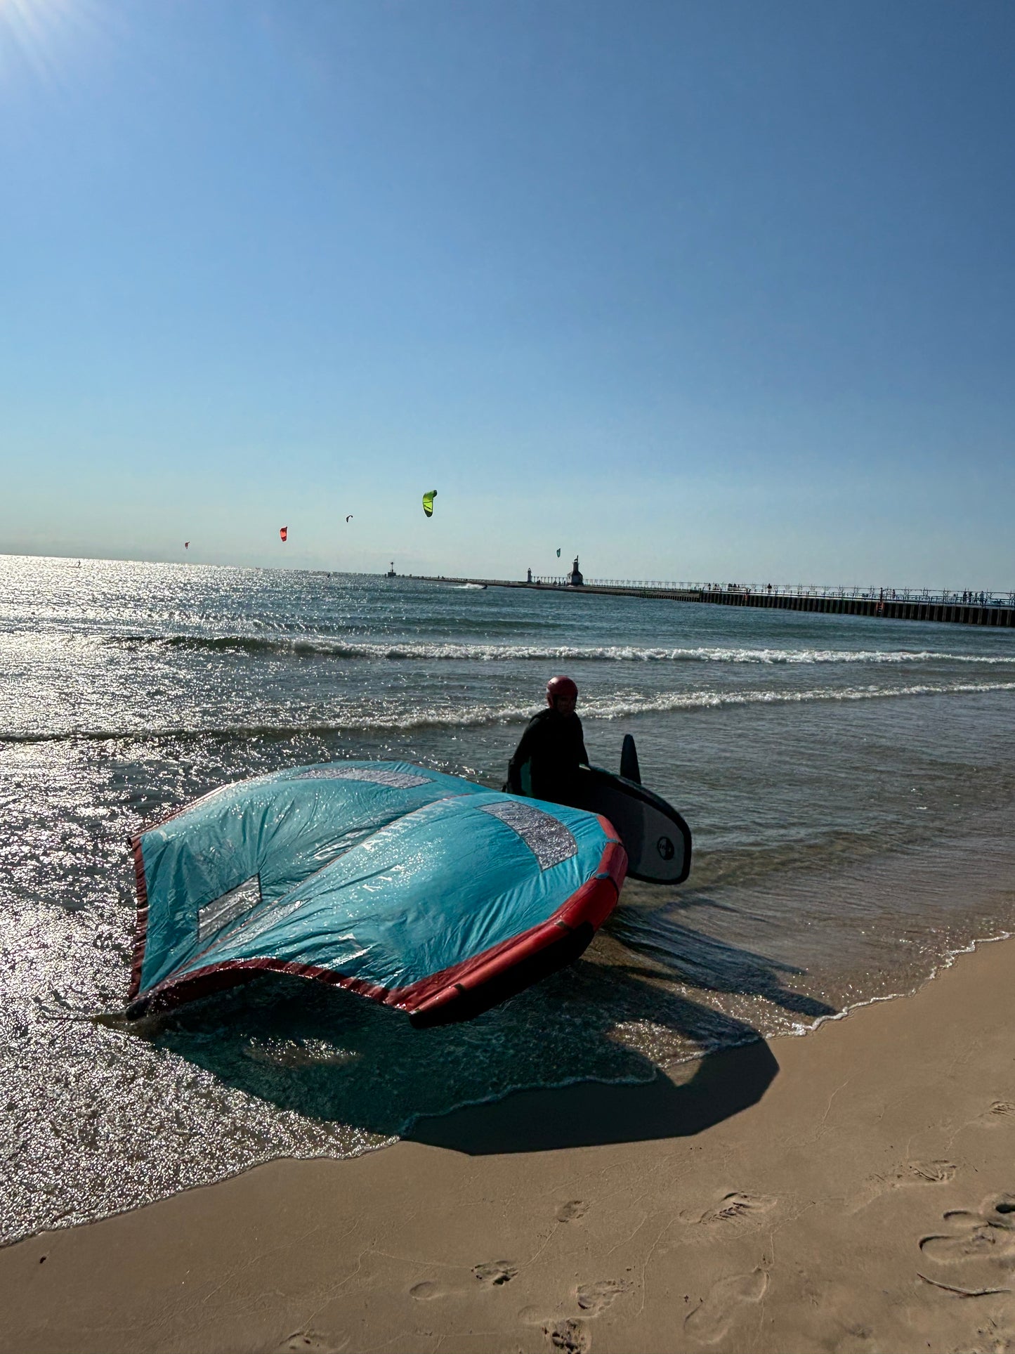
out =
<svg viewBox="0 0 1015 1354"><path fill-rule="evenodd" d="M1011 0L0 0L0 551L1015 586L1014 56Z"/></svg>

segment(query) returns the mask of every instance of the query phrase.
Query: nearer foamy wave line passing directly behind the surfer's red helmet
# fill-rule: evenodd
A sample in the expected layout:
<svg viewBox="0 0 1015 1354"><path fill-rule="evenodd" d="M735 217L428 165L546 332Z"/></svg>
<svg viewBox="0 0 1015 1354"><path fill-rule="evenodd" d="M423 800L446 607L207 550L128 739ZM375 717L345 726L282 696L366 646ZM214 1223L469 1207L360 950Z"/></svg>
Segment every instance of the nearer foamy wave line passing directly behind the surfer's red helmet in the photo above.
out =
<svg viewBox="0 0 1015 1354"><path fill-rule="evenodd" d="M659 696L614 693L582 700L583 719L631 719L636 715L667 714L678 709L721 709L728 705L804 705L816 701L895 700L903 696L970 696L989 692L1015 691L1015 681L1007 682L953 682L920 684L912 686L842 686L811 691L694 691L666 692ZM411 733L418 728L476 728L484 724L510 724L531 719L532 705L466 705L441 709L406 709L392 715L380 711L351 712L348 719L304 723L257 723L234 726L204 726L179 728L119 728L119 730L62 730L62 731L5 731L0 743L49 742L145 742L158 739L195 738L299 738L307 734L384 734Z"/></svg>

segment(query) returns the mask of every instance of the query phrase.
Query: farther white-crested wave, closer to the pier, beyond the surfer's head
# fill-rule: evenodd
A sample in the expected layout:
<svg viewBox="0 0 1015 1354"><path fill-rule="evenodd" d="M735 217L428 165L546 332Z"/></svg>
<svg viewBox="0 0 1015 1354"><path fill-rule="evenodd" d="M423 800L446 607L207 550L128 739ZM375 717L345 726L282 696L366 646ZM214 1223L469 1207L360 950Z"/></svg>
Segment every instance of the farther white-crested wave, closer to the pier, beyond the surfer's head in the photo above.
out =
<svg viewBox="0 0 1015 1354"><path fill-rule="evenodd" d="M296 654L368 662L673 662L673 663L984 663L1015 665L1015 654L950 654L930 649L696 649L644 647L639 645L466 645L406 640L351 643L348 639L287 635L122 635L120 645L152 645L162 649L208 653Z"/></svg>

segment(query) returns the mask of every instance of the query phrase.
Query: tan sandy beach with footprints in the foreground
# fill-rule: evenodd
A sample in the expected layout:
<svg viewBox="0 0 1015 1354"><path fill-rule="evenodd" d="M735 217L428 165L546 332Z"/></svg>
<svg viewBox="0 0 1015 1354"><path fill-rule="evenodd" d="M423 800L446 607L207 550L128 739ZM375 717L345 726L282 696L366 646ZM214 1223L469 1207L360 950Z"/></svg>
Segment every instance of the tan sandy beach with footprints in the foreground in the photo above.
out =
<svg viewBox="0 0 1015 1354"><path fill-rule="evenodd" d="M1015 1350L1014 971L32 1238L0 1350Z"/></svg>

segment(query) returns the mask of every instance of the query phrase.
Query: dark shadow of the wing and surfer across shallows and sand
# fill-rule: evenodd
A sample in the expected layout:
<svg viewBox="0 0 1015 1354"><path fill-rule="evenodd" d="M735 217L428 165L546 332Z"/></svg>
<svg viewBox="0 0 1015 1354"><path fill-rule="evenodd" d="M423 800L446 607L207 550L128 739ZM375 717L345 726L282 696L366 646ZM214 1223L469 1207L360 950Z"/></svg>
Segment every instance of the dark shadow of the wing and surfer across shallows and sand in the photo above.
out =
<svg viewBox="0 0 1015 1354"><path fill-rule="evenodd" d="M461 1025L415 1030L353 994L263 975L137 1032L318 1124L461 1152L687 1136L761 1099L778 1063L752 1025L666 983L761 995L811 1017L831 1007L788 990L789 965L658 914L647 921L656 940L664 927L670 963L621 917L618 961L590 953Z"/></svg>

